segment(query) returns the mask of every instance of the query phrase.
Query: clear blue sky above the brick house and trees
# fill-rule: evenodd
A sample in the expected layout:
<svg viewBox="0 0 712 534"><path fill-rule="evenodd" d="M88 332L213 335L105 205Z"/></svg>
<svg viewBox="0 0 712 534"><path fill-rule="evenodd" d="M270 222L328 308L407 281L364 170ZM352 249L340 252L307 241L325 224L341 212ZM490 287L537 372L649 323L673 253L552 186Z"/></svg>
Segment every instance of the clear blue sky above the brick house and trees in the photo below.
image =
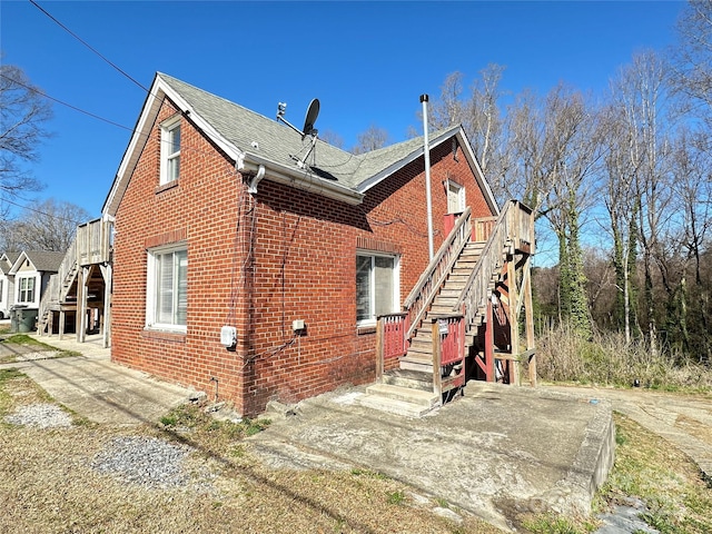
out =
<svg viewBox="0 0 712 534"><path fill-rule="evenodd" d="M601 92L644 48L674 42L682 2L457 1L241 2L37 0L145 87L162 71L267 117L288 103L300 126L312 98L317 127L349 148L372 125L393 141L418 130L419 95L436 99L445 77L467 83L488 63L502 86L546 92L560 81ZM51 97L112 126L53 105L52 138L30 170L47 184L34 198L101 206L145 91L28 0L0 2L3 61Z"/></svg>

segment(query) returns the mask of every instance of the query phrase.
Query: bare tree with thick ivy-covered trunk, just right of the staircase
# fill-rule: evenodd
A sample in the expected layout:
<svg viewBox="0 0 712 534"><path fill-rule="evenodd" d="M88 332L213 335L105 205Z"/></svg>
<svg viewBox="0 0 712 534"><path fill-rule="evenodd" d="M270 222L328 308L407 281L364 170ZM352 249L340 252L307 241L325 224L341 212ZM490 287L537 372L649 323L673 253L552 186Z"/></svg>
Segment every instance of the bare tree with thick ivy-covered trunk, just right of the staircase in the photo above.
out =
<svg viewBox="0 0 712 534"><path fill-rule="evenodd" d="M544 99L527 92L510 109L510 142L525 201L546 218L558 241L560 314L589 336L581 221L601 158L597 113L563 85Z"/></svg>

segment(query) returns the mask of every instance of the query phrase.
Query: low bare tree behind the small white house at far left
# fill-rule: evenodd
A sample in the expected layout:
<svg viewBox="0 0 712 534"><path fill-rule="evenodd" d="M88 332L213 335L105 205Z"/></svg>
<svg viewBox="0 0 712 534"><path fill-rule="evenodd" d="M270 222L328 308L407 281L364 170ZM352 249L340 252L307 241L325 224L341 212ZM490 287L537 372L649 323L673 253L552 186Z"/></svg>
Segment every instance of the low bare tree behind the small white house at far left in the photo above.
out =
<svg viewBox="0 0 712 534"><path fill-rule="evenodd" d="M89 220L86 209L55 199L34 202L14 221L2 226L0 244L4 250L66 251L77 225Z"/></svg>

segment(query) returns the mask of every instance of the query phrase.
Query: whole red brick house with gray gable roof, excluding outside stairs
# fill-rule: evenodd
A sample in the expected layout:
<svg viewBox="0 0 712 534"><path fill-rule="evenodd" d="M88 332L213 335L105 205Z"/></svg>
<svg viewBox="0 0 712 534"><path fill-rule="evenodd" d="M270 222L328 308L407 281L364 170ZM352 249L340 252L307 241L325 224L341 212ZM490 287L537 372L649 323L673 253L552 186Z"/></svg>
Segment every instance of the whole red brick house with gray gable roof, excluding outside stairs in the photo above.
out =
<svg viewBox="0 0 712 534"><path fill-rule="evenodd" d="M435 248L451 247L451 268L475 234L454 214L473 228L502 217L462 128L429 141ZM115 228L112 359L246 415L373 382L384 370L378 316L398 315L432 278L424 159L423 138L359 156L313 146L158 73L103 206ZM512 243L507 257L524 254ZM504 277L498 260L492 268Z"/></svg>

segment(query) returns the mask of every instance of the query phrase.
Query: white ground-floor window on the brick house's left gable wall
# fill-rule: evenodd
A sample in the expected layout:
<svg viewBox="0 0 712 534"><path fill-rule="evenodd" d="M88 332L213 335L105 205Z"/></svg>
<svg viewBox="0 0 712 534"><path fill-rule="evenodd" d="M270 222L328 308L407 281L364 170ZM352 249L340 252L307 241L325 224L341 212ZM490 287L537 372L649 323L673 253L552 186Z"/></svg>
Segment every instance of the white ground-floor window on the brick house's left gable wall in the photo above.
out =
<svg viewBox="0 0 712 534"><path fill-rule="evenodd" d="M186 332L188 250L186 246L148 253L146 326Z"/></svg>

